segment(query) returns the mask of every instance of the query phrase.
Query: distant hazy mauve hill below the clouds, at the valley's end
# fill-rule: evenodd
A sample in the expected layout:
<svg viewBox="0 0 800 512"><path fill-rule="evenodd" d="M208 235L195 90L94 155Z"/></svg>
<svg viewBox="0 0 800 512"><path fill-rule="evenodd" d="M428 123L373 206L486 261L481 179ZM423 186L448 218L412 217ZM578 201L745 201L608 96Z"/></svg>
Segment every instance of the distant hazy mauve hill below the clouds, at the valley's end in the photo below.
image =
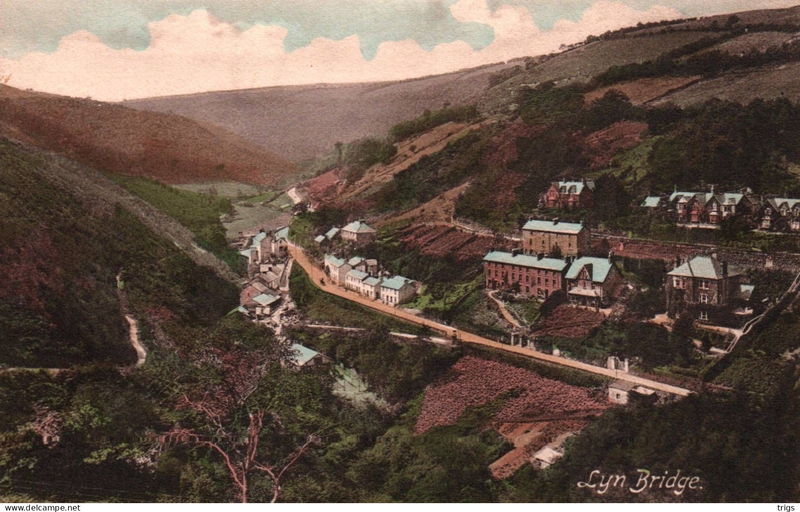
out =
<svg viewBox="0 0 800 512"><path fill-rule="evenodd" d="M491 74L514 65L500 63L402 82L229 90L138 99L124 105L214 123L298 162L330 151L334 142L382 134L423 110L474 102L486 90Z"/></svg>

